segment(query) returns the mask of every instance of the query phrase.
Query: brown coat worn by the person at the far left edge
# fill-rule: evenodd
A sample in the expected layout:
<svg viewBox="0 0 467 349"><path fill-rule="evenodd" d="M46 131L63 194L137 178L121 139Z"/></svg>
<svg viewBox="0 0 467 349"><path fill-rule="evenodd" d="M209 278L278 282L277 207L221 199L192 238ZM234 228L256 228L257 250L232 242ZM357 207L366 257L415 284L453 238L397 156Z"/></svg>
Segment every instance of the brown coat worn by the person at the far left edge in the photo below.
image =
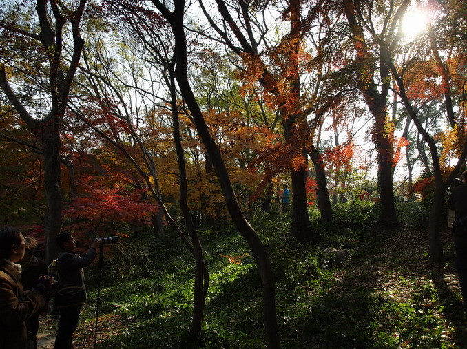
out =
<svg viewBox="0 0 467 349"><path fill-rule="evenodd" d="M38 290L23 290L18 269L7 260L0 260L0 349L27 348L25 321L44 304Z"/></svg>

